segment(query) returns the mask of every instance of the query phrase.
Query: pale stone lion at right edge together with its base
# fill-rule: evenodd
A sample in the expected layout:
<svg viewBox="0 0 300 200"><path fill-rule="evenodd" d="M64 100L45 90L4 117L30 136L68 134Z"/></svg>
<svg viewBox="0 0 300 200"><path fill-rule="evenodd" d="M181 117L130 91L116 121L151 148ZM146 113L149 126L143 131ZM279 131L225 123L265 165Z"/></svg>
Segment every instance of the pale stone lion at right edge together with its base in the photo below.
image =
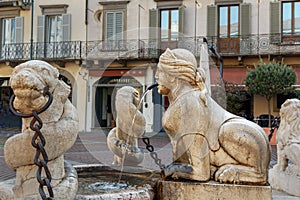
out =
<svg viewBox="0 0 300 200"><path fill-rule="evenodd" d="M300 197L300 100L288 99L280 109L276 134L277 164L269 171L274 189Z"/></svg>

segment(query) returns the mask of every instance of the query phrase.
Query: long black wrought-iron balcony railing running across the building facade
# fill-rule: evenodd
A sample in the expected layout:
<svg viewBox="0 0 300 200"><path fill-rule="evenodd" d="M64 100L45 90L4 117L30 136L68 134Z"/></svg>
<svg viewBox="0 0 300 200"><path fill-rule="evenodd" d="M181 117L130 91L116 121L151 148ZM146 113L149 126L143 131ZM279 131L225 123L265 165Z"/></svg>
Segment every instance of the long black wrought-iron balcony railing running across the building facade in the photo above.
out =
<svg viewBox="0 0 300 200"><path fill-rule="evenodd" d="M208 37L209 44L223 57L258 55L300 56L300 40L282 35L248 35L237 38ZM174 43L174 42L173 42ZM172 43L172 44L173 44ZM203 37L183 37L176 41L177 48L190 50L200 56ZM174 45L174 44L173 44ZM158 59L165 50L158 40L70 41L33 43L32 57L45 61L66 60L140 60ZM30 43L5 44L0 49L0 62L23 62L30 58Z"/></svg>

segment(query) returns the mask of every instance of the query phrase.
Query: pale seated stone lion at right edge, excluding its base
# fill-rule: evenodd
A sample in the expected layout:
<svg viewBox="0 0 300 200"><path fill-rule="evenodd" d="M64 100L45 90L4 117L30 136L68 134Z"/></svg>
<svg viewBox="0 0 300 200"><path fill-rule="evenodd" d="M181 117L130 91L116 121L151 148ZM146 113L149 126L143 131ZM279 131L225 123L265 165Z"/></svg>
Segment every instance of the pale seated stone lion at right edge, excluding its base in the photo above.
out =
<svg viewBox="0 0 300 200"><path fill-rule="evenodd" d="M280 126L276 134L277 168L285 171L289 166L300 176L300 100L288 99L280 109ZM290 164L289 164L290 161ZM291 167L293 166L293 167Z"/></svg>

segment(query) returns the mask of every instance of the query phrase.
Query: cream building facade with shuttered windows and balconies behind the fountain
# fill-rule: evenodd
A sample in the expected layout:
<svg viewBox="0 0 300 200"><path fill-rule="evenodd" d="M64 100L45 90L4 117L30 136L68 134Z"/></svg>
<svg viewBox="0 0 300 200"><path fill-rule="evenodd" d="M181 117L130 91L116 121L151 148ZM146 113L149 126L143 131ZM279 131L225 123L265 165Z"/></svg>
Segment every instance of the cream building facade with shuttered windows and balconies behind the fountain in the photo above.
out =
<svg viewBox="0 0 300 200"><path fill-rule="evenodd" d="M188 49L199 60L206 38L223 58L221 66L211 56L223 80L238 86L260 59L283 59L300 73L299 0L39 0L33 6L0 0L0 20L1 111L7 108L14 66L45 60L72 87L80 131L113 127L115 92L131 85L144 93L155 82L166 48ZM273 115L278 98L272 100ZM262 97L246 99L248 115L267 113ZM167 100L154 89L141 106L146 131L160 131Z"/></svg>

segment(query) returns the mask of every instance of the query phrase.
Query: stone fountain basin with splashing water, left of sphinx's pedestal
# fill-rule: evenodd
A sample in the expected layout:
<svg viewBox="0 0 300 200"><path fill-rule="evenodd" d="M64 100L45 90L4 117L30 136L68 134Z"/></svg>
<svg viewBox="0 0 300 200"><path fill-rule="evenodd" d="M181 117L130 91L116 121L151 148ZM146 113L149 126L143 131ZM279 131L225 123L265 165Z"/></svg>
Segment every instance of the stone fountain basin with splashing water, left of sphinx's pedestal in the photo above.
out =
<svg viewBox="0 0 300 200"><path fill-rule="evenodd" d="M155 198L160 174L136 166L74 165L78 175L76 200Z"/></svg>

